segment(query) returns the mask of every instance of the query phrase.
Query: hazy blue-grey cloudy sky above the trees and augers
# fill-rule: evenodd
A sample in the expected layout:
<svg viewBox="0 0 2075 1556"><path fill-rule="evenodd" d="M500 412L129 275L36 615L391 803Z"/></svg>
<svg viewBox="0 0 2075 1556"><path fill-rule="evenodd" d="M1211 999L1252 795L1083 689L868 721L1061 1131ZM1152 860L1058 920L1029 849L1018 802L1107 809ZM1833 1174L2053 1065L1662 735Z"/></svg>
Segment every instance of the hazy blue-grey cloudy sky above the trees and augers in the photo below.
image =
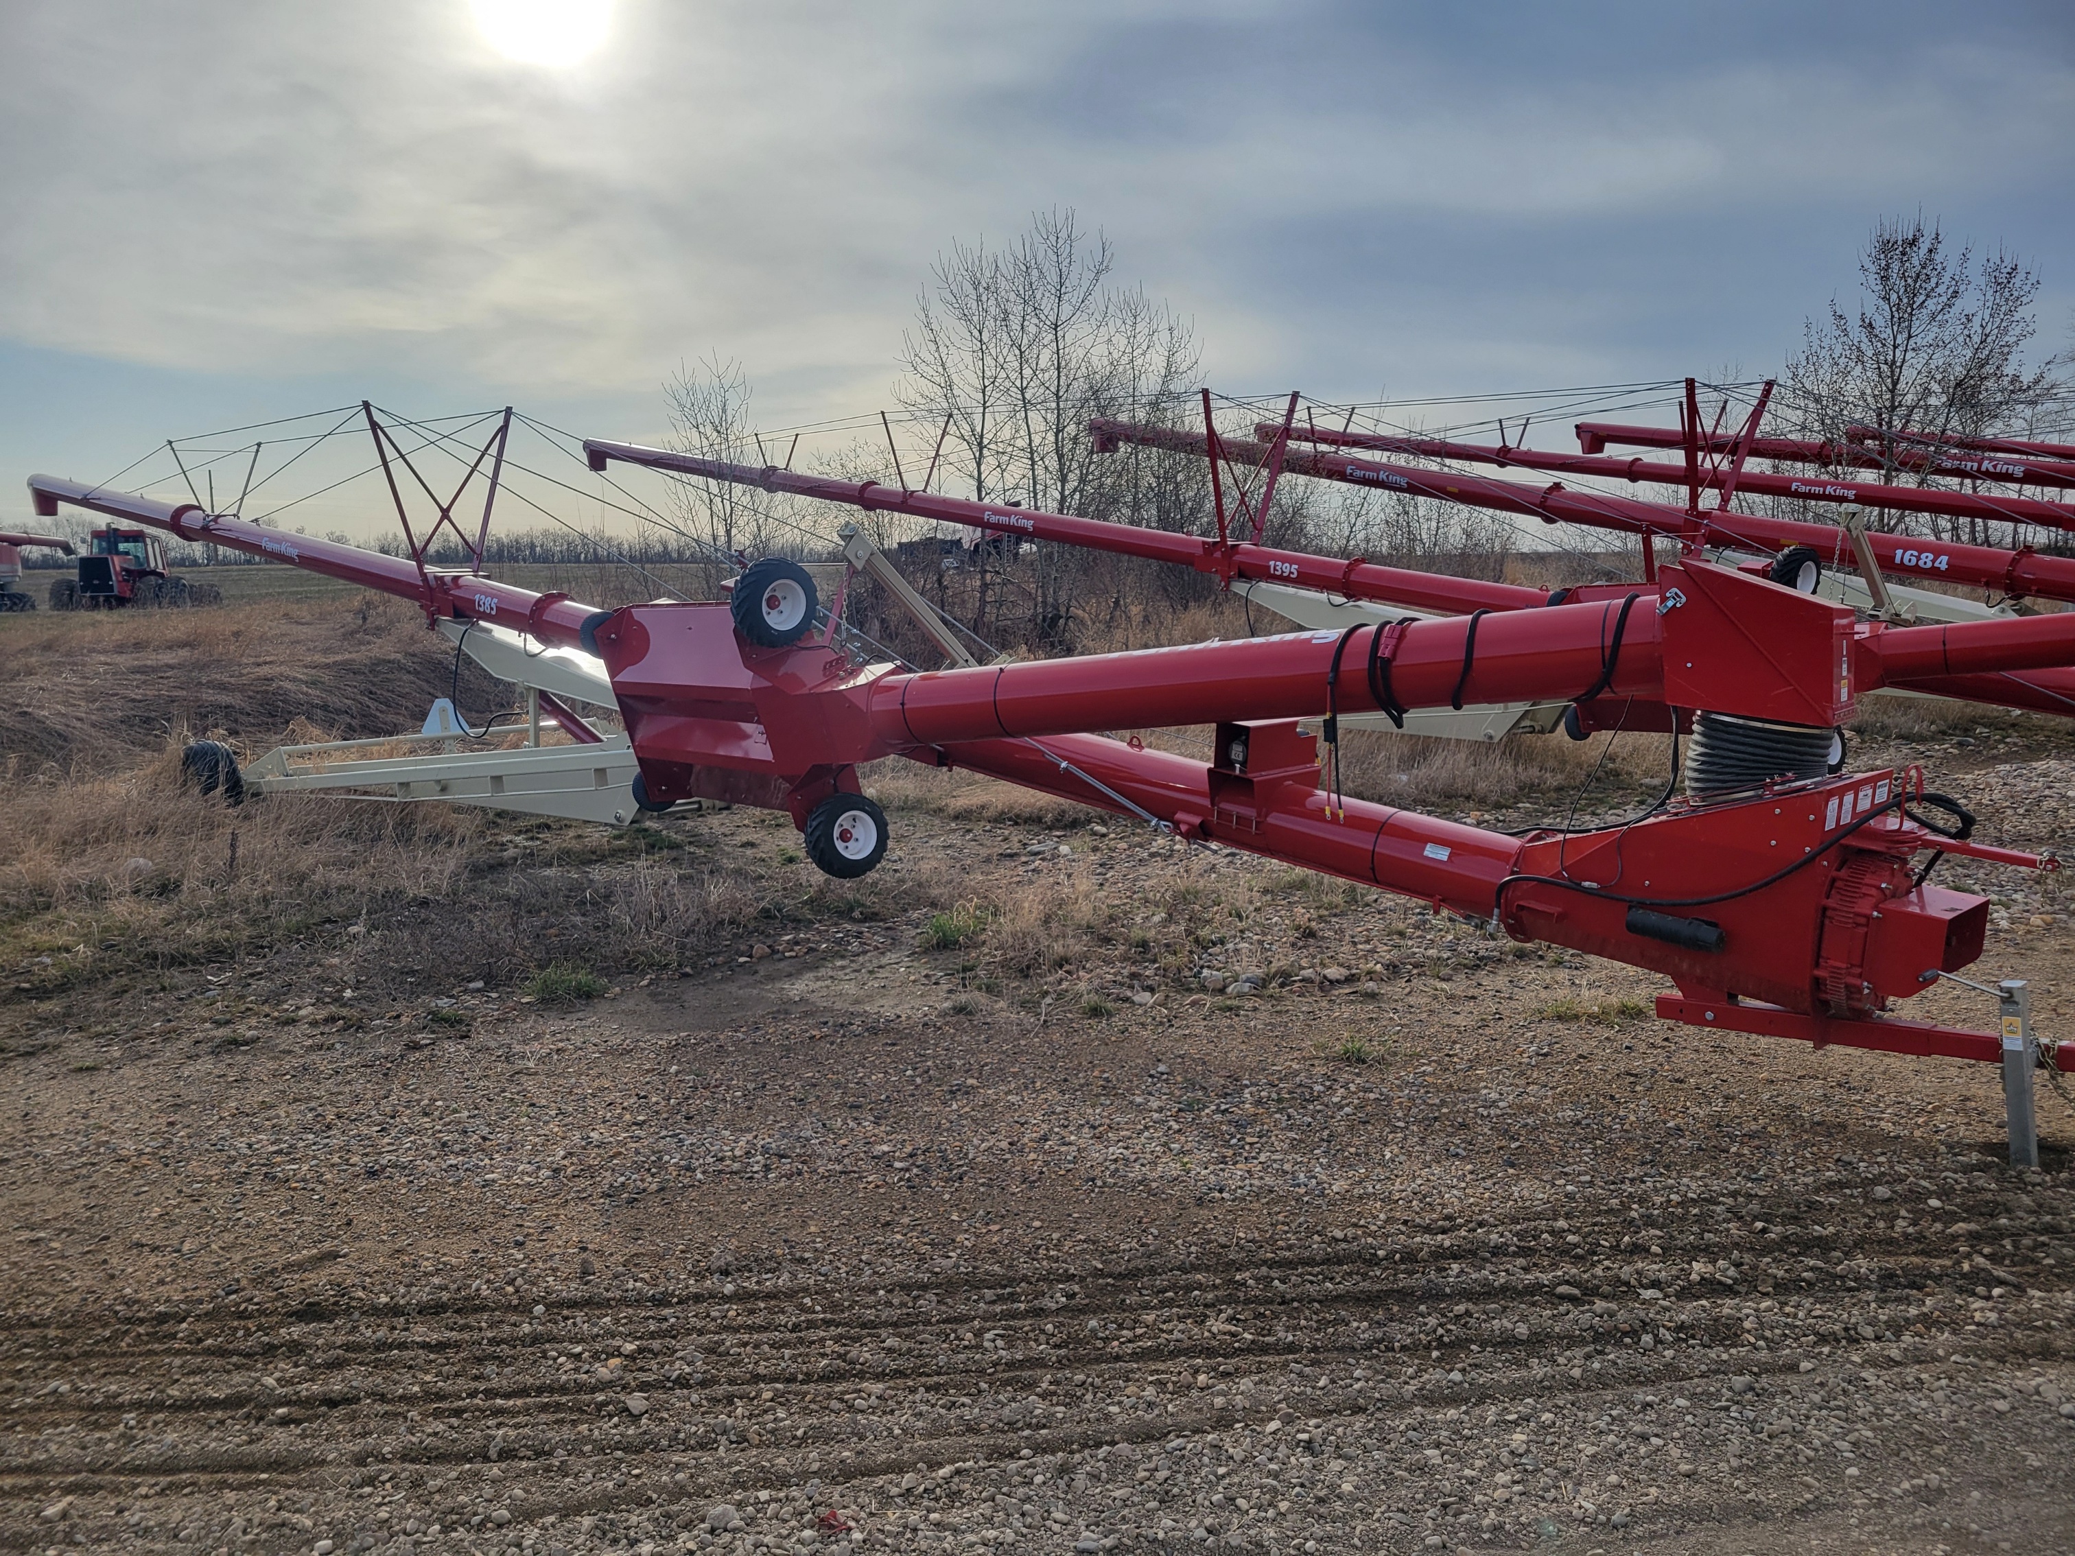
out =
<svg viewBox="0 0 2075 1556"><path fill-rule="evenodd" d="M1760 376L1919 207L2075 317L2065 0L618 0L562 66L469 0L0 0L0 523L363 394L641 438L720 353L764 425L874 411L1040 205L1228 392Z"/></svg>

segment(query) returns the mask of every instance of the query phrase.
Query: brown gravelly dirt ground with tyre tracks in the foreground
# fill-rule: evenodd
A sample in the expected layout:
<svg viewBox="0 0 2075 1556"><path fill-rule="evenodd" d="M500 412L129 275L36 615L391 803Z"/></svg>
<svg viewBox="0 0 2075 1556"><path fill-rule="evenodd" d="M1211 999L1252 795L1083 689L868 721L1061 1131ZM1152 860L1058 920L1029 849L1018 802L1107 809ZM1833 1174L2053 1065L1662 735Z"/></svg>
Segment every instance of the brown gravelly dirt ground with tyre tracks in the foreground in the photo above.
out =
<svg viewBox="0 0 2075 1556"><path fill-rule="evenodd" d="M1899 755L2071 830L2000 716ZM0 1550L2075 1548L2063 1097L2013 1172L1986 1066L886 782L855 905L672 817L766 907L562 1004L448 888L154 956L10 896ZM625 869L457 838L540 961ZM1948 873L2075 1037L2056 882Z"/></svg>

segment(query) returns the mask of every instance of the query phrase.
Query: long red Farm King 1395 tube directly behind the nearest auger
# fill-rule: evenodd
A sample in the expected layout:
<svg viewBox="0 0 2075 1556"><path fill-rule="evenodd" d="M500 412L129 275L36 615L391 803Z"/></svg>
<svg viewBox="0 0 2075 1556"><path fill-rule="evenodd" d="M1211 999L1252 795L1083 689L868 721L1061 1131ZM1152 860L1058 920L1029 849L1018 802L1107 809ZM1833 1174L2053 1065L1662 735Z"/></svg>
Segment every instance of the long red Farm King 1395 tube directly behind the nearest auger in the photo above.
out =
<svg viewBox="0 0 2075 1556"><path fill-rule="evenodd" d="M1052 539L1118 556L1189 566L1222 579L1293 583L1301 589L1340 593L1351 600L1384 600L1411 610L1519 610L1523 606L1540 606L1548 600L1546 589L1525 589L1513 583L1450 579L1436 573L1378 566L1361 560L1343 562L1330 556L1284 552L1274 546L1251 546L1245 541L1220 546L1214 539L1177 535L1164 529L1114 525L1102 519L1079 519L1002 502L969 502L932 492L903 492L878 481L834 481L822 475L795 475L772 465L730 465L722 459L699 459L695 454L676 454L668 448L643 448L641 444L587 438L583 452L593 469L604 469L608 461L620 461L622 465L643 465L676 475L753 485L764 492L791 492L793 496L818 498L822 502L842 502L865 512L903 512L911 519L965 525L990 535Z"/></svg>

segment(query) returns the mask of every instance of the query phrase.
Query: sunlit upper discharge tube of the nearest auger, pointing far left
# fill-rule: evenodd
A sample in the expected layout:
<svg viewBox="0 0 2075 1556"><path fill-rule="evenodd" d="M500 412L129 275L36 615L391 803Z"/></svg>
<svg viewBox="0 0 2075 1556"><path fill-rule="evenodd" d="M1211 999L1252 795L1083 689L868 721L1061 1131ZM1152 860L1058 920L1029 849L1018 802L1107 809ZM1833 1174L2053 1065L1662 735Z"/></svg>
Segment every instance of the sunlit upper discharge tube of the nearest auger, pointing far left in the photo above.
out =
<svg viewBox="0 0 2075 1556"><path fill-rule="evenodd" d="M508 583L469 573L434 571L421 579L409 558L382 556L380 552L365 552L359 546L340 546L328 539L311 539L309 535L290 535L280 529L255 525L249 519L203 512L193 502L160 502L158 498L110 492L58 475L31 475L29 494L35 502L35 512L44 519L56 517L60 504L108 515L110 519L131 519L164 529L181 539L224 546L268 562L288 562L309 573L324 573L330 579L357 583L363 589L413 600L427 618L450 616L452 620L496 622L515 633L531 633L542 643L589 647L585 627L606 618L604 610L577 604L569 595L533 593L531 589L517 589Z"/></svg>

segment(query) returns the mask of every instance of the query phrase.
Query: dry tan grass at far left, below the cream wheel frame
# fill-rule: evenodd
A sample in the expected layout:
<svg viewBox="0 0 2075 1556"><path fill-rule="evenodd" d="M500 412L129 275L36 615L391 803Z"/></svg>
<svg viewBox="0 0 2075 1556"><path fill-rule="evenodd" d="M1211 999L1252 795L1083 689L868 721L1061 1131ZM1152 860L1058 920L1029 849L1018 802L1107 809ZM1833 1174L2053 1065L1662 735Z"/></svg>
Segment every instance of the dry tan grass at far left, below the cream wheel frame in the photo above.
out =
<svg viewBox="0 0 2075 1556"><path fill-rule="evenodd" d="M674 967L759 921L815 915L795 880L701 857L691 828L604 834L301 795L230 809L178 788L176 761L168 749L135 774L15 786L0 965L54 958L31 998L89 961L172 971L320 948L374 983L421 969L500 981L548 958Z"/></svg>

